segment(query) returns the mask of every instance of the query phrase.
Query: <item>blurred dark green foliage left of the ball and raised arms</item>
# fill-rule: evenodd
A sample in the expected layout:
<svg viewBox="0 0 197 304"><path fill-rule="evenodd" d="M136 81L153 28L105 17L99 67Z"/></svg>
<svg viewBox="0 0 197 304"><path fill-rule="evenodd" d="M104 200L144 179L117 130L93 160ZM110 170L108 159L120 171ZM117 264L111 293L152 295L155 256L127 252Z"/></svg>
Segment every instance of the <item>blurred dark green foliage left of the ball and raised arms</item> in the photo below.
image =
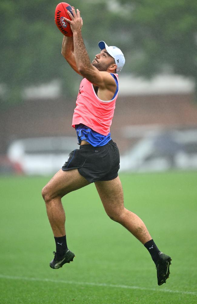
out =
<svg viewBox="0 0 197 304"><path fill-rule="evenodd" d="M54 78L67 78L61 62L61 39L54 25L52 1L0 2L1 76L6 84L2 106L22 100L22 89ZM61 37L61 33L59 35ZM61 37L62 38L62 37ZM68 95L72 85L68 87Z"/></svg>

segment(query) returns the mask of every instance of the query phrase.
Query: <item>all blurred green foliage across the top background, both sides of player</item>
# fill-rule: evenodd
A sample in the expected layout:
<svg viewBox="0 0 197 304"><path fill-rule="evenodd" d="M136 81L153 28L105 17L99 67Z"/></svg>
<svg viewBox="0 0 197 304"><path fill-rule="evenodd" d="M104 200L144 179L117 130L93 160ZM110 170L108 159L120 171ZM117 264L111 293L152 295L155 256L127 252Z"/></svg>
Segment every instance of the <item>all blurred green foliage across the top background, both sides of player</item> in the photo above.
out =
<svg viewBox="0 0 197 304"><path fill-rule="evenodd" d="M76 95L80 78L61 55L63 35L54 23L57 3L0 2L0 83L7 86L3 103L18 102L23 88L54 78L62 83L67 97ZM197 2L76 0L70 4L81 11L91 60L99 52L97 43L104 40L125 54L123 72L151 77L168 67L197 78Z"/></svg>

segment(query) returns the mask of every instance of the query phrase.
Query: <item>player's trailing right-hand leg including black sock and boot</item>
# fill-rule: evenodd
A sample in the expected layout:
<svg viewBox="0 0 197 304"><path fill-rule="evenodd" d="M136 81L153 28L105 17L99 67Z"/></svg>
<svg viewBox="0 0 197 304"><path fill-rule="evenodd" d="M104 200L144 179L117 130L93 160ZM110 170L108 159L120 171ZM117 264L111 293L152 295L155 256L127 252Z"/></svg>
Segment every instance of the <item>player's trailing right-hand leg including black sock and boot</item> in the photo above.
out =
<svg viewBox="0 0 197 304"><path fill-rule="evenodd" d="M125 209L119 177L112 181L97 181L95 186L106 213L111 219L128 229L143 245L145 244L156 265L158 285L165 283L170 274L169 266L172 259L159 251L142 220L135 213ZM151 248L149 248L150 242Z"/></svg>

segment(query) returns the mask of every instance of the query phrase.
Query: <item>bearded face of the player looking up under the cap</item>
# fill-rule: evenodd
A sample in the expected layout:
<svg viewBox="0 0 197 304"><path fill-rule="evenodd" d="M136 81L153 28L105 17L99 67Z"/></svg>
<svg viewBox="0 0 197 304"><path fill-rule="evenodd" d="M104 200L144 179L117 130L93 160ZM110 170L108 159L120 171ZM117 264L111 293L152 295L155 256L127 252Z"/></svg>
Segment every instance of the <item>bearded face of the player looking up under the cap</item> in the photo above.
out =
<svg viewBox="0 0 197 304"><path fill-rule="evenodd" d="M92 61L92 65L99 71L107 71L108 67L112 64L115 64L115 60L105 49L101 50Z"/></svg>

